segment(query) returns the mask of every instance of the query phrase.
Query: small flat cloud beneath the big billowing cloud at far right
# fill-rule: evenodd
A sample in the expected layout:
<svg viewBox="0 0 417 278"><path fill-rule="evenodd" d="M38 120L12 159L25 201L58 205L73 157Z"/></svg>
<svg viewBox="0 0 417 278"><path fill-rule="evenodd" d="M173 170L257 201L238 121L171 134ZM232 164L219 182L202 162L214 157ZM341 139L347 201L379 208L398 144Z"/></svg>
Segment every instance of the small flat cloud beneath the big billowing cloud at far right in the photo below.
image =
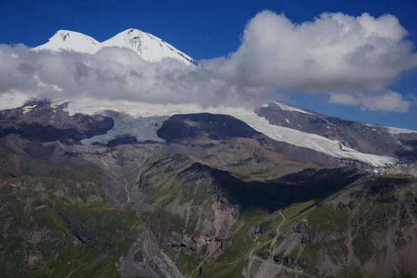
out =
<svg viewBox="0 0 417 278"><path fill-rule="evenodd" d="M386 92L382 95L365 95L363 93L332 93L329 97L332 104L359 106L362 110L405 113L410 110L410 101L402 98L397 92Z"/></svg>

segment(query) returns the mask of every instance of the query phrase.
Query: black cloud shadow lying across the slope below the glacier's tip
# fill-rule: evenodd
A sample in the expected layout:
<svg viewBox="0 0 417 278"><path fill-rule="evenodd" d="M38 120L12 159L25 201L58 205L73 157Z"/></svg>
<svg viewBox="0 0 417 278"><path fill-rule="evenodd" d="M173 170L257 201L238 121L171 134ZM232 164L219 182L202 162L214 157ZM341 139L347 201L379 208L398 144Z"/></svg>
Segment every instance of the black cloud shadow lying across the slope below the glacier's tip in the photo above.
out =
<svg viewBox="0 0 417 278"><path fill-rule="evenodd" d="M241 206L243 213L253 208L272 212L297 202L325 198L349 186L363 175L354 168L345 167L322 170L306 169L288 174L275 181L263 183L241 181L229 172L199 163L194 163L190 170L193 168L211 172L225 193Z"/></svg>

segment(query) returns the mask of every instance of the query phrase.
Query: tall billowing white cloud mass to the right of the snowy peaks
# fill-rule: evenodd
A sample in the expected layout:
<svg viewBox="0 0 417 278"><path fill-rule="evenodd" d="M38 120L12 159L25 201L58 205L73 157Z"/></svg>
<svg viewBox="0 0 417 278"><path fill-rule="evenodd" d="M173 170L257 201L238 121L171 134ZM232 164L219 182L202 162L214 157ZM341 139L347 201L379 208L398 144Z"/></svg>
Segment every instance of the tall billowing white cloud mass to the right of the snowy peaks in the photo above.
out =
<svg viewBox="0 0 417 278"><path fill-rule="evenodd" d="M380 92L417 66L407 31L392 15L323 13L295 24L259 13L222 68L230 79L291 92Z"/></svg>

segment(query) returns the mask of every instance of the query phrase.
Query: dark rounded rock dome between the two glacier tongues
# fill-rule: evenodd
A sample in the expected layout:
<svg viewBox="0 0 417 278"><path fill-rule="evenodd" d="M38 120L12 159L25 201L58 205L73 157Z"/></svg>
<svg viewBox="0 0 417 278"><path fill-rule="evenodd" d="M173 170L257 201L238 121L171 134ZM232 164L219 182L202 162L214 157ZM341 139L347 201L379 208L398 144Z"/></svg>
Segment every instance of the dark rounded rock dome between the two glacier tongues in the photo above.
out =
<svg viewBox="0 0 417 278"><path fill-rule="evenodd" d="M158 130L158 137L168 142L183 139L255 138L260 135L235 117L210 113L174 115Z"/></svg>

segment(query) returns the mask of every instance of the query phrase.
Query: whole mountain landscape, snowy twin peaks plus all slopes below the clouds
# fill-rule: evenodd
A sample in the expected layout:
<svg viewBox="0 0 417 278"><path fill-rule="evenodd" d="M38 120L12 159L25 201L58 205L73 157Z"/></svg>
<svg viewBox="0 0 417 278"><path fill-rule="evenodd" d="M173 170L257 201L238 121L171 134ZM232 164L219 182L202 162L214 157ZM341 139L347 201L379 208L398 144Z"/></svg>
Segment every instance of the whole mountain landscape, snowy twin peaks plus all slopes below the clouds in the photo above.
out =
<svg viewBox="0 0 417 278"><path fill-rule="evenodd" d="M103 47L198 66L136 29L34 50ZM0 111L0 220L0 277L416 277L417 131L277 101L28 99Z"/></svg>

